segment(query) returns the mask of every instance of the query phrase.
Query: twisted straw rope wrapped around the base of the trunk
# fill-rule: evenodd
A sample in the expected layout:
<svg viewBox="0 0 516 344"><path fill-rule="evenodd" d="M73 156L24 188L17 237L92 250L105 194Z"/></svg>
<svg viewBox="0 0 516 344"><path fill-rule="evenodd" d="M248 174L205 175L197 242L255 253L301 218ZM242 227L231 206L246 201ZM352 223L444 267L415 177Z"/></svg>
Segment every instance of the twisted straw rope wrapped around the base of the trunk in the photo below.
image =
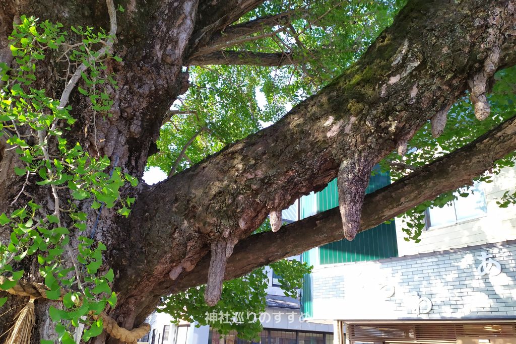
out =
<svg viewBox="0 0 516 344"><path fill-rule="evenodd" d="M12 281L11 279L0 276L0 284L3 284L6 280ZM41 283L17 281L17 283L12 288L7 289L6 291L17 296L28 296L31 299L48 299L46 297L47 290L48 289ZM65 294L66 292L61 290L61 297L59 300L62 300ZM143 323L131 331L126 330L123 327L118 326L115 319L109 317L105 312L101 312L99 315L95 315L90 312L90 315L95 320L102 318L102 326L111 337L120 339L121 341L130 344L136 343L138 339L143 337L151 330L151 326L148 323Z"/></svg>

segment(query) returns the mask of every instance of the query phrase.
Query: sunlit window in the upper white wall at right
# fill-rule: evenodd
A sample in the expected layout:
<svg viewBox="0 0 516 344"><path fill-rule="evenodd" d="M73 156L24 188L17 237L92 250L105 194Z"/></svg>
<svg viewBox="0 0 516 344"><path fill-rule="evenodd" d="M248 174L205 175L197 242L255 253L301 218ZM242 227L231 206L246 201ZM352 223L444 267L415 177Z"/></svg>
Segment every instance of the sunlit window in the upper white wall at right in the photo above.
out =
<svg viewBox="0 0 516 344"><path fill-rule="evenodd" d="M451 225L486 215L486 196L481 186L477 183L469 191L463 192L468 192L470 195L461 197L457 194L457 200L452 201L451 204L442 208L428 208L426 210L427 228Z"/></svg>

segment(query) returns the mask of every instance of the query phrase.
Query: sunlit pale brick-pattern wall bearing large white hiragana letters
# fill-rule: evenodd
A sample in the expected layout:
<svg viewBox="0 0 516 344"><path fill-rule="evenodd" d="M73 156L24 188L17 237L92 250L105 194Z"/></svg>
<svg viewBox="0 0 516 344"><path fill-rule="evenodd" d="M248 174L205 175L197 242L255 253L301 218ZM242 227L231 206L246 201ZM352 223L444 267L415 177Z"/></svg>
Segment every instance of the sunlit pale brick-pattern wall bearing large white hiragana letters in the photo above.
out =
<svg viewBox="0 0 516 344"><path fill-rule="evenodd" d="M482 252L501 273L493 264L479 274ZM321 266L312 273L312 297L314 319L514 317L516 242Z"/></svg>

